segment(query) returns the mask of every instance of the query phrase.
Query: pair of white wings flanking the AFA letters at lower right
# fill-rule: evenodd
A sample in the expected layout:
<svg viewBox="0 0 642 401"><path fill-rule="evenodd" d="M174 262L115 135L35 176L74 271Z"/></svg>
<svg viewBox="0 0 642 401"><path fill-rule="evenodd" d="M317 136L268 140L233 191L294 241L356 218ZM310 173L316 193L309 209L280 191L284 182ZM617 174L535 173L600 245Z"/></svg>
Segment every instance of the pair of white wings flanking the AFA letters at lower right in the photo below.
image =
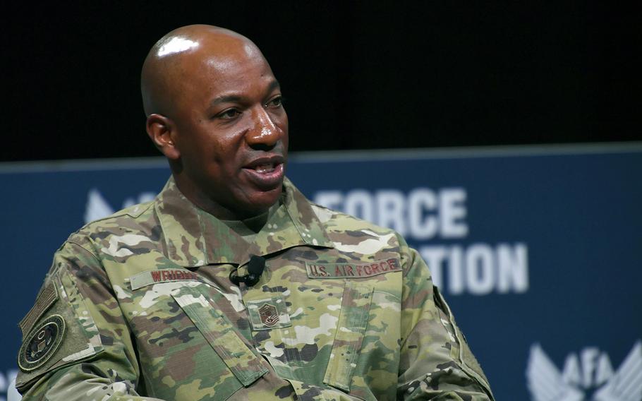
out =
<svg viewBox="0 0 642 401"><path fill-rule="evenodd" d="M566 369L564 369L566 371ZM566 372L564 372L566 373ZM579 383L569 383L564 373L539 344L531 347L526 367L528 390L534 401L640 401L642 400L642 341L638 340L615 373L593 396Z"/></svg>

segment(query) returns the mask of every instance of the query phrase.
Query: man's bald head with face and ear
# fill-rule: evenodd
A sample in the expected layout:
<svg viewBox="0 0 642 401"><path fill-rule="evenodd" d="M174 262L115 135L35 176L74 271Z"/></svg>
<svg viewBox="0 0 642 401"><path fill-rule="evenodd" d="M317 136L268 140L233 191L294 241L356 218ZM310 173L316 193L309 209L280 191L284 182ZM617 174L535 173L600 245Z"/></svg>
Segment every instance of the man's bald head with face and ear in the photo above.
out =
<svg viewBox="0 0 642 401"><path fill-rule="evenodd" d="M224 220L277 203L288 118L255 44L210 25L178 28L147 55L141 89L147 135L186 198Z"/></svg>

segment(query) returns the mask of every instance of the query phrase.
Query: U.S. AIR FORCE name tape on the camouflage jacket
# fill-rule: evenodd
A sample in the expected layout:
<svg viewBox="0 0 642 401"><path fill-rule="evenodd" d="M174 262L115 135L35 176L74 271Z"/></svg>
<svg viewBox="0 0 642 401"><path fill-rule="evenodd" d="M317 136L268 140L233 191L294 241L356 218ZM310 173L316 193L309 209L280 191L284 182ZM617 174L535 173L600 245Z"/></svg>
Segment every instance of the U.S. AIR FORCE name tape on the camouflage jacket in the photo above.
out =
<svg viewBox="0 0 642 401"><path fill-rule="evenodd" d="M363 278L390 272L400 272L399 259L371 263L305 263L310 278Z"/></svg>

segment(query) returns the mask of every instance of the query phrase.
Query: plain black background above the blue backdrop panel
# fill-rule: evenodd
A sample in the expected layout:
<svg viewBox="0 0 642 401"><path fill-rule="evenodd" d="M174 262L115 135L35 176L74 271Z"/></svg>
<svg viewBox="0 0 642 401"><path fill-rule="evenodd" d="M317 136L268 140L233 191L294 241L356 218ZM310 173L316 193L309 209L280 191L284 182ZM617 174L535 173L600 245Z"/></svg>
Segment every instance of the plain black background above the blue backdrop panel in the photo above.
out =
<svg viewBox="0 0 642 401"><path fill-rule="evenodd" d="M140 66L190 23L262 49L286 97L291 150L642 140L641 13L532 3L4 6L0 160L159 155Z"/></svg>

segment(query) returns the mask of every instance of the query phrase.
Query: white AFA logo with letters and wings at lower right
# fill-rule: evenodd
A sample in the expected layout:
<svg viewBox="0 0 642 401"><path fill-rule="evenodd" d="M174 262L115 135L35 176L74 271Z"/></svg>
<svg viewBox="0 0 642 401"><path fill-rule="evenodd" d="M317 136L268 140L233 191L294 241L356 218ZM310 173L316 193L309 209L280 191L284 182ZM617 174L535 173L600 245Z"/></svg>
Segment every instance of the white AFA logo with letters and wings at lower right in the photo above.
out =
<svg viewBox="0 0 642 401"><path fill-rule="evenodd" d="M539 344L531 346L526 380L535 401L641 401L642 341L617 371L606 352L587 347L571 353L560 372Z"/></svg>

